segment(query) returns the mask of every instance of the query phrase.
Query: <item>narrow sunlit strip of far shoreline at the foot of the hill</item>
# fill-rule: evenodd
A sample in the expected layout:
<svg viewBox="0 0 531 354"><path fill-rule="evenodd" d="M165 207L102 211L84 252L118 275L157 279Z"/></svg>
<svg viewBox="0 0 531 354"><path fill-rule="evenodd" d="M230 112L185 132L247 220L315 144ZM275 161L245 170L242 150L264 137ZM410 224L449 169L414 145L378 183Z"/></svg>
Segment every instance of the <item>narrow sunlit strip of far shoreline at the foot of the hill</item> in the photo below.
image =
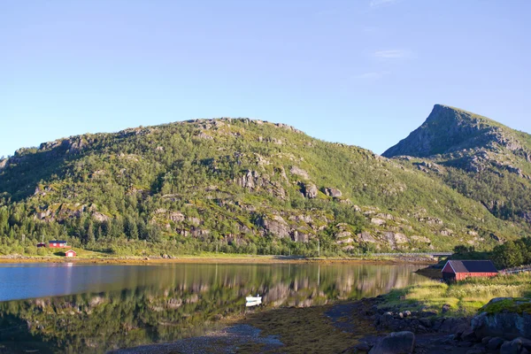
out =
<svg viewBox="0 0 531 354"><path fill-rule="evenodd" d="M0 264L23 263L78 263L78 264L114 264L114 265L165 265L165 264L416 264L430 265L435 260L429 258L302 258L289 256L247 256L247 255L204 255L179 256L173 258L150 257L116 257L116 258L64 258L64 257L35 257L35 256L1 256Z"/></svg>

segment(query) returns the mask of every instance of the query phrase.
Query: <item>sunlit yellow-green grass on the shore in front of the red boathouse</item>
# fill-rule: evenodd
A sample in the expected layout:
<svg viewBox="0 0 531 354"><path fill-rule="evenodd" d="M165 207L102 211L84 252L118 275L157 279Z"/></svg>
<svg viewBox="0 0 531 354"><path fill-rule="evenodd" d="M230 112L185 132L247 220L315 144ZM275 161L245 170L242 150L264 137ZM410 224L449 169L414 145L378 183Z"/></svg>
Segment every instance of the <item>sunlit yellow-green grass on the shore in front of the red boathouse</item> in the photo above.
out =
<svg viewBox="0 0 531 354"><path fill-rule="evenodd" d="M382 306L442 314L443 305L449 304L450 310L444 315L460 317L475 314L494 297L531 297L531 273L499 274L493 278L470 278L450 284L428 281L392 290Z"/></svg>

